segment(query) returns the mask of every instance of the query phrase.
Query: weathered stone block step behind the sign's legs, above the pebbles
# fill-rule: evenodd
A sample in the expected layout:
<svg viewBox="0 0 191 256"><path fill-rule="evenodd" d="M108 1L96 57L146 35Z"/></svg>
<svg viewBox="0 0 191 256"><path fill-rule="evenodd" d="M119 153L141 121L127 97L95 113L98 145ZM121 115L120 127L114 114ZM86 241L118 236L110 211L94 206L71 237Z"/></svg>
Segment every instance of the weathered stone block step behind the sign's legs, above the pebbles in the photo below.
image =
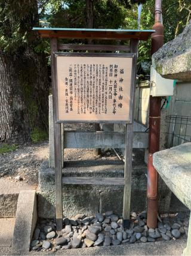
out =
<svg viewBox="0 0 191 256"><path fill-rule="evenodd" d="M114 169L115 168L115 169ZM146 209L147 198L147 166L146 164L133 167L131 186L131 210ZM85 173L85 175L83 175ZM63 170L64 176L94 176L94 177L123 177L124 165L104 165L89 167L67 167ZM171 196L164 184L159 193L162 212L170 209ZM122 214L124 186L122 185L69 185L63 184L63 214L74 216L77 213L93 215L96 212L114 210ZM39 170L38 215L42 218L54 218L55 187L54 169L44 162Z"/></svg>

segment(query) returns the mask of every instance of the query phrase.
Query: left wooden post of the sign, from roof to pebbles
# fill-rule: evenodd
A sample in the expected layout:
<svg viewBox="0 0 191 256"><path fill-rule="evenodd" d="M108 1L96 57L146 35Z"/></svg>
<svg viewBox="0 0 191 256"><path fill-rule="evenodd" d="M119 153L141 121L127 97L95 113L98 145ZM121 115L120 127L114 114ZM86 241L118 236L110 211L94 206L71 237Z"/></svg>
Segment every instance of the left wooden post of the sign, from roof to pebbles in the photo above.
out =
<svg viewBox="0 0 191 256"><path fill-rule="evenodd" d="M56 228L63 228L62 204L62 150L61 124L57 123L57 91L55 81L55 63L53 53L57 52L57 38L51 38L51 80L53 87L53 119L54 119L54 161L55 161L55 194L56 194Z"/></svg>

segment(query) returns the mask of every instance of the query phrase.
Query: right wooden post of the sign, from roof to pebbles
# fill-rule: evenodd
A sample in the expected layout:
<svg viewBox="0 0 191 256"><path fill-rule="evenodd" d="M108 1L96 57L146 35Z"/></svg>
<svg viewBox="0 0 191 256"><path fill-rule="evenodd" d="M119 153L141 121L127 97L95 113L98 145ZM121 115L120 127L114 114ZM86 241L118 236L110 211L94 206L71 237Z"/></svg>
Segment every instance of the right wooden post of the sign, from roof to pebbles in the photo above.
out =
<svg viewBox="0 0 191 256"><path fill-rule="evenodd" d="M137 65L137 47L138 40L131 40L131 53L135 53L134 67L132 70L132 83L135 84L136 65ZM131 94L131 124L127 124L125 128L125 167L124 167L124 205L123 205L123 225L130 227L130 204L131 204L131 172L132 172L132 150L133 150L133 119L134 119L134 91Z"/></svg>

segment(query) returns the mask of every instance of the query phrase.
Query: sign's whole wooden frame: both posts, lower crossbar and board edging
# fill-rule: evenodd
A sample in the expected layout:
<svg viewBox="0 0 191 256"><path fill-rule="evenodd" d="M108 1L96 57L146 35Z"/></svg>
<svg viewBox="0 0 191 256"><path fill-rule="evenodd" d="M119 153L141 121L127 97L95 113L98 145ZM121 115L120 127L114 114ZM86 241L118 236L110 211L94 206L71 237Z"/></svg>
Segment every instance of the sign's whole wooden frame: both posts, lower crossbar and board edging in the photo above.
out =
<svg viewBox="0 0 191 256"><path fill-rule="evenodd" d="M91 177L62 177L61 168L61 123L63 121L58 121L58 102L57 102L57 86L56 86L56 61L54 53L56 54L67 54L72 53L57 53L58 44L57 38L51 38L51 61L52 61L52 85L53 85L53 113L54 113L54 153L55 153L55 183L56 183L56 223L57 230L63 228L63 202L62 202L62 184L95 184L95 183L109 183L109 185L123 185L124 184L124 206L123 206L123 217L124 226L128 227L130 224L130 201L131 201L131 171L132 171L132 149L133 149L133 108L134 108L134 91L135 91L135 74L136 74L136 63L137 63L137 46L138 40L131 40L131 56L133 56L133 68L131 72L131 104L130 104L130 122L125 122L125 167L124 167L124 178L120 179L94 179ZM72 55L75 56L76 53ZM87 53L80 53L81 56L87 55ZM79 53L78 53L79 55ZM100 55L100 53L91 53L91 55ZM104 56L105 54L101 54ZM112 53L110 53L112 55ZM112 56L115 56L114 53ZM119 55L117 55L119 56ZM121 56L127 56L127 54L122 54ZM64 121L65 122L65 121ZM71 122L71 121L68 121ZM78 121L80 122L80 121ZM84 121L82 121L84 122ZM90 121L88 121L90 122ZM91 121L92 122L92 121ZM120 123L119 121L117 121ZM98 121L100 123L100 121ZM105 122L104 123L111 123ZM113 124L113 122L112 122Z"/></svg>

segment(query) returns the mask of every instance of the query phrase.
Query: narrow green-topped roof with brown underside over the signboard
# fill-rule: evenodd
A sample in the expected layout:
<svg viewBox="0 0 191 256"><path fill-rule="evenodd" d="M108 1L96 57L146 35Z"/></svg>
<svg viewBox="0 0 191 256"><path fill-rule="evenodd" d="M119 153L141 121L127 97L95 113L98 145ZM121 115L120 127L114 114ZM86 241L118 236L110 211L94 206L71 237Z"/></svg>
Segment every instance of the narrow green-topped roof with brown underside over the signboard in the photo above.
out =
<svg viewBox="0 0 191 256"><path fill-rule="evenodd" d="M146 41L155 30L139 29L85 29L85 28L33 28L44 38L91 38L104 40L138 39Z"/></svg>

